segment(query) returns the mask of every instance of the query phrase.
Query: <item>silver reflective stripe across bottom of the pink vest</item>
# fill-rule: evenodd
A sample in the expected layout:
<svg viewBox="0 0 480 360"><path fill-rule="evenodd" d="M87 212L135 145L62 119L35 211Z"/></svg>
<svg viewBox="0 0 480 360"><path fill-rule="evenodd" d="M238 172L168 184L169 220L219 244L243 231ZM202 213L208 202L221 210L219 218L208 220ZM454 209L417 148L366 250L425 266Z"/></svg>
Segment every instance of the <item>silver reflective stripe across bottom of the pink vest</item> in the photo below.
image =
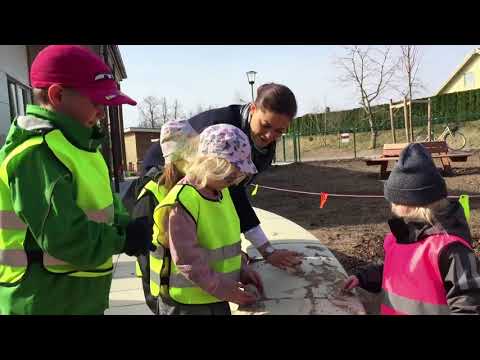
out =
<svg viewBox="0 0 480 360"><path fill-rule="evenodd" d="M396 313L409 315L449 315L450 309L444 304L428 304L418 300L382 290L382 305L389 307Z"/></svg>

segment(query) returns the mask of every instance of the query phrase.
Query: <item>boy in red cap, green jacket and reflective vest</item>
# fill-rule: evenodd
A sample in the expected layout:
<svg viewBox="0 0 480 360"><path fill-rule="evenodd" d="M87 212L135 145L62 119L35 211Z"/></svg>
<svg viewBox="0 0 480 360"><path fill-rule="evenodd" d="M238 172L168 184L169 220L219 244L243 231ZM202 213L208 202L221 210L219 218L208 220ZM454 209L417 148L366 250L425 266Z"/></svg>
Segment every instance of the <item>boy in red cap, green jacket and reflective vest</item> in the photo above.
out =
<svg viewBox="0 0 480 360"><path fill-rule="evenodd" d="M35 58L36 105L0 150L0 314L103 314L112 255L148 251L147 219L129 222L99 148L105 106L135 101L81 46Z"/></svg>

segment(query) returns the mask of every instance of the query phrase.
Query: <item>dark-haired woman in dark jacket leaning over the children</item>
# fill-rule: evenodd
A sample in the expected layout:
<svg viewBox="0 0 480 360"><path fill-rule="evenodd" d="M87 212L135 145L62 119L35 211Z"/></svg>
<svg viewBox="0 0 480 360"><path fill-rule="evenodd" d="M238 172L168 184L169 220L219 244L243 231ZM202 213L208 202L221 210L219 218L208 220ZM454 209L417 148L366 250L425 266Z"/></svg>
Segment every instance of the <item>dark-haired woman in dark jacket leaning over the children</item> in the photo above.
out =
<svg viewBox="0 0 480 360"><path fill-rule="evenodd" d="M258 88L257 98L251 104L208 110L184 121L190 128L189 131L193 129L197 134L215 124L231 124L241 129L250 140L252 160L261 173L270 167L276 140L287 131L296 113L297 102L292 91L284 85L270 83ZM155 143L152 147L159 145ZM162 160L159 158L158 162ZM250 178L229 189L240 218L242 233L270 264L285 268L300 263L300 254L275 249L268 241L248 199L247 185L252 180Z"/></svg>

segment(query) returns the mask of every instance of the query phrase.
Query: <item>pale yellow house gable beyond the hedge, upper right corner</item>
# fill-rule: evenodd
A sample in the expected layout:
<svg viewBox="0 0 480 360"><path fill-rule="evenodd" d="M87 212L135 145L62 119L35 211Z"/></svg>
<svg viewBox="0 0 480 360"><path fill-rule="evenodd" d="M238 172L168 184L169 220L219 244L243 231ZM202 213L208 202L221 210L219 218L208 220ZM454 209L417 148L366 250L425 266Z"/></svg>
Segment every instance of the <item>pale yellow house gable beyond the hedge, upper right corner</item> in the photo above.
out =
<svg viewBox="0 0 480 360"><path fill-rule="evenodd" d="M437 95L480 88L480 48L474 49L438 90Z"/></svg>

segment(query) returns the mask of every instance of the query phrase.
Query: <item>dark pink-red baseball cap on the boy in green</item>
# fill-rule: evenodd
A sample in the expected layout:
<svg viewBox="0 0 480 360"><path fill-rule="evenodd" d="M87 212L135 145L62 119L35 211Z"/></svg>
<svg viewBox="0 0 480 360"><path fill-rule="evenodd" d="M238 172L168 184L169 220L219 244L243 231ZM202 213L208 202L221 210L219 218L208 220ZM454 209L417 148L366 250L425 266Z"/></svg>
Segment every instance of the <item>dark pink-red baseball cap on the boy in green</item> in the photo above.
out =
<svg viewBox="0 0 480 360"><path fill-rule="evenodd" d="M59 84L72 88L95 104L137 105L117 86L110 68L90 49L78 45L50 45L35 57L30 69L33 88Z"/></svg>

